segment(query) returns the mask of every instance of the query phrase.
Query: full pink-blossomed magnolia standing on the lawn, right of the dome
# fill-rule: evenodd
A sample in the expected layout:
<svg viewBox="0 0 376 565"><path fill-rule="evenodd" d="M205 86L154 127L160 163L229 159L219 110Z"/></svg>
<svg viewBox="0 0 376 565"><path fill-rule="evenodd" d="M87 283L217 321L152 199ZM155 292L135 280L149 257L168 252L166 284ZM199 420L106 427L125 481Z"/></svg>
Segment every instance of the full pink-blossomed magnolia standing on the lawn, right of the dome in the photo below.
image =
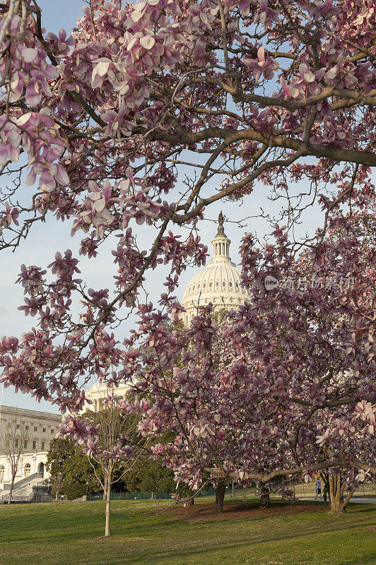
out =
<svg viewBox="0 0 376 565"><path fill-rule="evenodd" d="M338 213L330 237L298 259L283 228L264 251L248 234L250 299L227 323L216 326L209 305L171 333L149 311L143 342L134 347L141 332L130 340L124 376L145 367L133 391L146 399L124 410L143 415L143 436L175 432L155 456L194 489L212 480L218 511L228 480L284 486L331 469L331 511L341 512L356 482L376 474L376 247L356 237L358 227ZM341 468L353 478L343 503Z"/></svg>

